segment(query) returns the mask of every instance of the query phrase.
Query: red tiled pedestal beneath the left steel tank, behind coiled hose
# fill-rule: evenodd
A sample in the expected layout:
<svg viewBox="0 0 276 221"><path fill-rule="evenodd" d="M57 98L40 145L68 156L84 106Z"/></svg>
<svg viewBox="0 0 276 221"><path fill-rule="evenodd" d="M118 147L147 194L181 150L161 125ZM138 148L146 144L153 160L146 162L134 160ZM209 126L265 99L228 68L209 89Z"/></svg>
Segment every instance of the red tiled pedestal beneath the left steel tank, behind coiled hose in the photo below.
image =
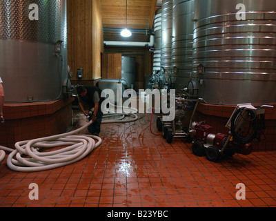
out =
<svg viewBox="0 0 276 221"><path fill-rule="evenodd" d="M5 104L0 145L14 148L23 140L66 133L72 123L72 99L52 102Z"/></svg>

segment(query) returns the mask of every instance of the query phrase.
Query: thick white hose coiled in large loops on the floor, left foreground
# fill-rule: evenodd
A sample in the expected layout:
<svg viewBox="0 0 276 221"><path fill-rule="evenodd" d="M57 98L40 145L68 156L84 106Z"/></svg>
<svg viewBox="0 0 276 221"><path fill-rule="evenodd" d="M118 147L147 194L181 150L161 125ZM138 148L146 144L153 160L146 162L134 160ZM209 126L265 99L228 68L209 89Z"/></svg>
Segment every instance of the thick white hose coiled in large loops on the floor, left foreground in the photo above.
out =
<svg viewBox="0 0 276 221"><path fill-rule="evenodd" d="M90 124L92 121L68 133L17 142L14 150L2 146L0 148L11 152L7 158L7 166L13 171L35 172L55 169L83 159L101 144L100 137L78 134ZM42 153L37 150L37 148L49 149L61 146L66 147Z"/></svg>

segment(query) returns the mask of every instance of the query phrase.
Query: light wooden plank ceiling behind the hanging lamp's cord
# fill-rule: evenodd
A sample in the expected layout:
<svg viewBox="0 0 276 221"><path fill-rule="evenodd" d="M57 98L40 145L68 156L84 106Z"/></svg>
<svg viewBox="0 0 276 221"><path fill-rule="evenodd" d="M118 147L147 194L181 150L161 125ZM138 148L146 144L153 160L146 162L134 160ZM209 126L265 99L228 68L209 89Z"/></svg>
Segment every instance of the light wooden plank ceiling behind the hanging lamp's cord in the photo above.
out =
<svg viewBox="0 0 276 221"><path fill-rule="evenodd" d="M127 28L152 28L157 0L128 0ZM103 28L126 27L126 0L101 0Z"/></svg>

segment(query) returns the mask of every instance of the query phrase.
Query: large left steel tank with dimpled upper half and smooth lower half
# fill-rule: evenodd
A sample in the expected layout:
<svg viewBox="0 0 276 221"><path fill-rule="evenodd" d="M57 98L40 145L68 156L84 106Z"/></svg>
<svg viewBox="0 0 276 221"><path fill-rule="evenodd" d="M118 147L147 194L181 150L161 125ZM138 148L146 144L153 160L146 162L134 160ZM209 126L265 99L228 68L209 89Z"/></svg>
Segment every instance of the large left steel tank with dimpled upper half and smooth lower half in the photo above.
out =
<svg viewBox="0 0 276 221"><path fill-rule="evenodd" d="M29 8L34 3L36 8ZM62 97L68 73L66 0L0 1L0 77L6 102ZM39 12L38 20L29 15ZM56 44L61 43L61 53Z"/></svg>

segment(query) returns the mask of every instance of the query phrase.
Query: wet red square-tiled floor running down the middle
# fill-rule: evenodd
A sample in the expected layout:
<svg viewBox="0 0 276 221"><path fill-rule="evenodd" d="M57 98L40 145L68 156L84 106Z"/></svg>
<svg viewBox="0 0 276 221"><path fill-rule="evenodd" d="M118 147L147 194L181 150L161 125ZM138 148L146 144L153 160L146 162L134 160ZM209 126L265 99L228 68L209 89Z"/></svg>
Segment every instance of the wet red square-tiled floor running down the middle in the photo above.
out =
<svg viewBox="0 0 276 221"><path fill-rule="evenodd" d="M19 173L4 160L0 206L276 206L276 152L209 162L193 155L184 139L168 144L152 135L150 115L102 124L100 137L101 146L88 157L59 169ZM39 200L28 197L31 183L39 186ZM236 199L239 183L246 186L246 200Z"/></svg>

